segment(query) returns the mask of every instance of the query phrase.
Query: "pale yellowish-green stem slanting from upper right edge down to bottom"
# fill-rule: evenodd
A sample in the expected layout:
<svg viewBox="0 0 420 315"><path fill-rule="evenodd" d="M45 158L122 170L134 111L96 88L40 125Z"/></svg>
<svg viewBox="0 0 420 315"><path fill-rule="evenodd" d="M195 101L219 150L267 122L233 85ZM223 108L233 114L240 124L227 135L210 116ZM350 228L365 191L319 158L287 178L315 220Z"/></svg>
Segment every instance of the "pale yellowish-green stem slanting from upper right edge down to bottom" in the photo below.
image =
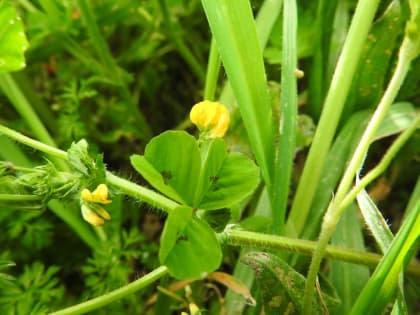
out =
<svg viewBox="0 0 420 315"><path fill-rule="evenodd" d="M389 106L391 106L402 83L404 82L404 79L409 70L410 63L416 56L416 54L413 53L413 51L416 51L416 49L417 48L415 46L413 47L413 43L407 39L407 37L404 38L398 55L397 67L394 71L391 81L389 82L388 87L378 104L378 107L376 108L365 132L362 135L362 138L359 141L359 144L349 162L347 169L344 172L340 184L338 185L337 192L334 196L334 200L330 203L330 206L325 213L317 250L312 257L312 262L309 267L305 287L303 314L311 314L311 301L314 294L314 286L318 270L325 253L325 248L335 231L338 221L340 220L343 212L346 210L346 207L343 207L343 200L349 192L356 172L358 169L360 169L360 166L363 163L363 159L366 156L369 146L375 136L376 130L381 124Z"/></svg>

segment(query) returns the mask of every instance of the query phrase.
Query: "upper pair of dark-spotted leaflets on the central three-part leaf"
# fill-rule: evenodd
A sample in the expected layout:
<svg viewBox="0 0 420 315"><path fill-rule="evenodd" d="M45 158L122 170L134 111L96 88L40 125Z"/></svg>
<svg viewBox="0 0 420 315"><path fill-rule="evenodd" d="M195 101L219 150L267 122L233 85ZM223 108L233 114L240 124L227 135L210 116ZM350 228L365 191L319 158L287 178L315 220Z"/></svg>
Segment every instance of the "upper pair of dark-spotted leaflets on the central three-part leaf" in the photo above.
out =
<svg viewBox="0 0 420 315"><path fill-rule="evenodd" d="M153 138L133 167L157 190L192 208L216 210L249 196L259 183L258 167L241 153L227 153L222 139L198 146L183 131Z"/></svg>

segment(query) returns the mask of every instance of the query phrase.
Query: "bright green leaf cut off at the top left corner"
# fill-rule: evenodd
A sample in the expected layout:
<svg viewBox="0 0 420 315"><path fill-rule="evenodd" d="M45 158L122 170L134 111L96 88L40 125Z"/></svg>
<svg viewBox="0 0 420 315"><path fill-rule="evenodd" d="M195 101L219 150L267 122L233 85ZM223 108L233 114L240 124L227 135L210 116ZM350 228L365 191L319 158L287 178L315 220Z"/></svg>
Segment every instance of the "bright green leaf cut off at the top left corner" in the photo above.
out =
<svg viewBox="0 0 420 315"><path fill-rule="evenodd" d="M28 41L21 18L5 1L0 1L0 25L0 73L20 70L25 67Z"/></svg>

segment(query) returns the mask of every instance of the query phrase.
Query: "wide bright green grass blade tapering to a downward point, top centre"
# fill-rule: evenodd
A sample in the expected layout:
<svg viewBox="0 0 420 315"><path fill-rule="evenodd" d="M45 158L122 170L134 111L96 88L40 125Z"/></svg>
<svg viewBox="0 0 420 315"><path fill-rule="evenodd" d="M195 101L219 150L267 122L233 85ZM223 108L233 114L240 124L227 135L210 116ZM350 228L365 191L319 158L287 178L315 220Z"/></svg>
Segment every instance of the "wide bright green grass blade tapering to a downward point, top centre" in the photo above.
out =
<svg viewBox="0 0 420 315"><path fill-rule="evenodd" d="M248 0L202 0L264 181L273 183L273 127L263 56Z"/></svg>

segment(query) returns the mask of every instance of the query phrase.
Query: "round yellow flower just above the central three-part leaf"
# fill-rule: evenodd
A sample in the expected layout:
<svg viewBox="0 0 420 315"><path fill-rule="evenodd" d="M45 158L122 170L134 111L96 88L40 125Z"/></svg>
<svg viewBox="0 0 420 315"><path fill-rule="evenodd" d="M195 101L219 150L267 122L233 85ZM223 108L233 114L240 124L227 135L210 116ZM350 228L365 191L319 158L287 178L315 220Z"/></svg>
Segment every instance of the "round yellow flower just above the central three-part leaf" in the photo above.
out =
<svg viewBox="0 0 420 315"><path fill-rule="evenodd" d="M229 127L230 115L223 104L202 101L191 109L190 120L210 138L221 138Z"/></svg>

